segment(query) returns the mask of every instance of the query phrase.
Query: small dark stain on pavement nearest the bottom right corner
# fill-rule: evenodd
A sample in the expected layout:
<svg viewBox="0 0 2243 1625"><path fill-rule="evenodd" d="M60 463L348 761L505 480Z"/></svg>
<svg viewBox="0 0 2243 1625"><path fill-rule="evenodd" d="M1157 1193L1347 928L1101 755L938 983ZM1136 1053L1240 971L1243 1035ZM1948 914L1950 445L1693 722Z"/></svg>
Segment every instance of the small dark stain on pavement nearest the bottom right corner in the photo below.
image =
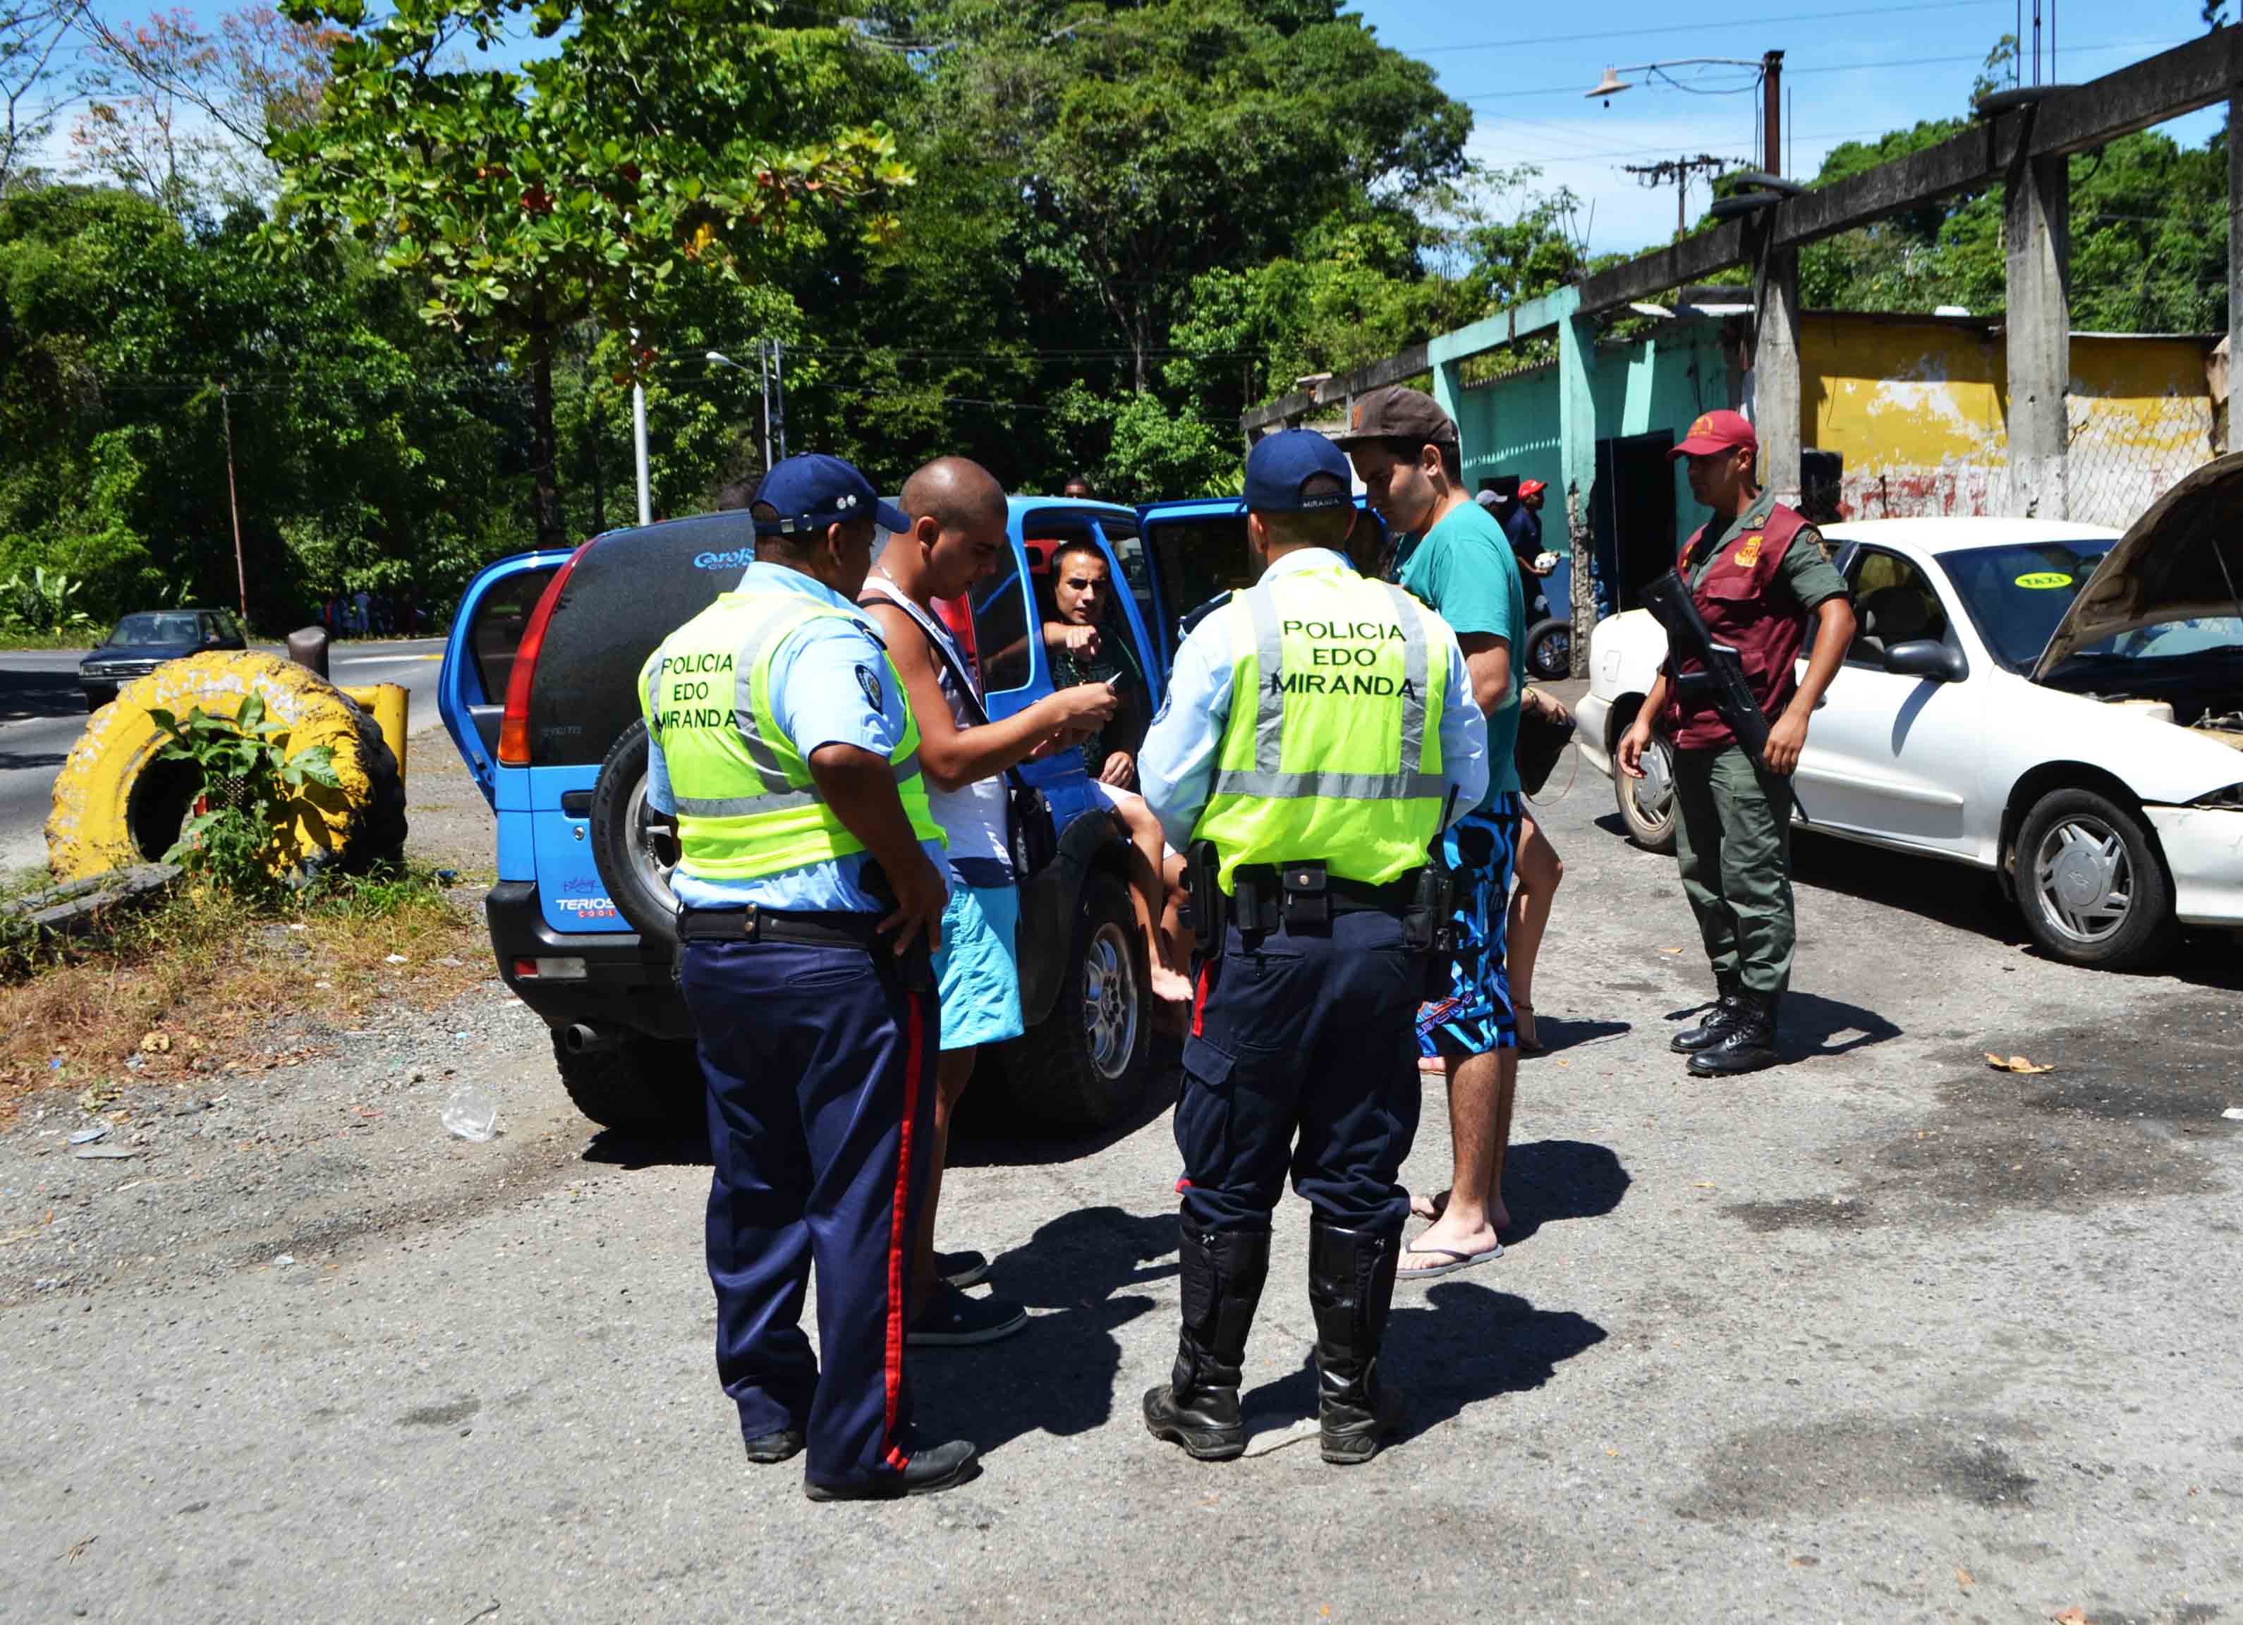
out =
<svg viewBox="0 0 2243 1625"><path fill-rule="evenodd" d="M1711 1452L1702 1482L1676 1502L1676 1513L1774 1520L1927 1499L2030 1506L2037 1479L1990 1441L1996 1428L2003 1423L1871 1414L1750 1428Z"/></svg>

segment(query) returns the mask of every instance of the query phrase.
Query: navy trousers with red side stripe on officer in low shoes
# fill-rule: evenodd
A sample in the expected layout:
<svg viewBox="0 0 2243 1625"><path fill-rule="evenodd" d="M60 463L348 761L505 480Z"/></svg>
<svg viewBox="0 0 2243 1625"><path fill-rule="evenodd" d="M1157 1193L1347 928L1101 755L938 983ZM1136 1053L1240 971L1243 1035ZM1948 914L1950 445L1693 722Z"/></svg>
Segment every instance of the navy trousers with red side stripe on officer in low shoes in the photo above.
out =
<svg viewBox="0 0 2243 1625"><path fill-rule="evenodd" d="M803 1428L816 1484L899 1473L933 995L823 944L689 941L677 975L709 1078L716 1374L740 1434ZM812 1264L823 1369L801 1329Z"/></svg>

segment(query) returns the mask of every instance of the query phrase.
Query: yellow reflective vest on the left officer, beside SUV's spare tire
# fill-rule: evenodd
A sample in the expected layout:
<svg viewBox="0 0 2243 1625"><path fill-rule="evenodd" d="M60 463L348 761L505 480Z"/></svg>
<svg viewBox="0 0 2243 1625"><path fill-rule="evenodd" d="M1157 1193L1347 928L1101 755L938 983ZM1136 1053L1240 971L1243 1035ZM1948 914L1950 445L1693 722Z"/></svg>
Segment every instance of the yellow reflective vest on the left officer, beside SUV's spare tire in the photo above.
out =
<svg viewBox="0 0 2243 1625"><path fill-rule="evenodd" d="M639 668L639 713L671 771L684 874L751 881L864 852L772 713L772 661L819 619L864 625L792 592L727 592ZM920 841L942 841L920 778L911 697L886 654L879 670L904 704L904 737L888 758L904 814Z"/></svg>

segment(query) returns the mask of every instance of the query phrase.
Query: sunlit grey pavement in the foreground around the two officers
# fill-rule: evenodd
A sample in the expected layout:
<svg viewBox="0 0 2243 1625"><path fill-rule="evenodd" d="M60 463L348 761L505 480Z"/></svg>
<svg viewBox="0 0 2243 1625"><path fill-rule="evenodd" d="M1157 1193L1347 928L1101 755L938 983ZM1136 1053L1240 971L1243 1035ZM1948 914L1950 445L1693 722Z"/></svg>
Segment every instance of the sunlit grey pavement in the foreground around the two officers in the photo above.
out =
<svg viewBox="0 0 2243 1625"><path fill-rule="evenodd" d="M1296 1199L1252 1455L1144 1434L1178 1313L1155 1089L1090 1143L982 1112L944 1244L1034 1322L913 1369L987 1470L807 1504L713 1385L704 1150L592 1134L484 993L132 1096L132 1159L70 1159L67 1089L0 1134L0 1616L2243 1614L2234 946L2073 971L1960 870L1808 836L1792 1060L1700 1085L1667 1051L1707 982L1671 861L1619 841L1590 769L1545 820L1568 879L1516 1231L1397 1293L1413 1419L1370 1466L1308 1441ZM498 1141L440 1132L446 1067L498 1096ZM1406 1177L1447 1152L1429 1089Z"/></svg>

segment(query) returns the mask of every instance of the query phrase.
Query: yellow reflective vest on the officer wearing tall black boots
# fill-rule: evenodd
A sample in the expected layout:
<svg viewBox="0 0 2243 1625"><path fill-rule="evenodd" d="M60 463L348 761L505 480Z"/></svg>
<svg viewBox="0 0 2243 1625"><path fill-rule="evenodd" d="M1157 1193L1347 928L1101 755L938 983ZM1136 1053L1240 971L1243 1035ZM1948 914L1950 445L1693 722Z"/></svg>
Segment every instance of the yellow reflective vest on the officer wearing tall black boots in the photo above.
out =
<svg viewBox="0 0 2243 1625"><path fill-rule="evenodd" d="M1218 883L1321 858L1384 885L1427 861L1449 782L1440 706L1453 639L1400 587L1332 565L1231 598L1231 713L1207 809Z"/></svg>

